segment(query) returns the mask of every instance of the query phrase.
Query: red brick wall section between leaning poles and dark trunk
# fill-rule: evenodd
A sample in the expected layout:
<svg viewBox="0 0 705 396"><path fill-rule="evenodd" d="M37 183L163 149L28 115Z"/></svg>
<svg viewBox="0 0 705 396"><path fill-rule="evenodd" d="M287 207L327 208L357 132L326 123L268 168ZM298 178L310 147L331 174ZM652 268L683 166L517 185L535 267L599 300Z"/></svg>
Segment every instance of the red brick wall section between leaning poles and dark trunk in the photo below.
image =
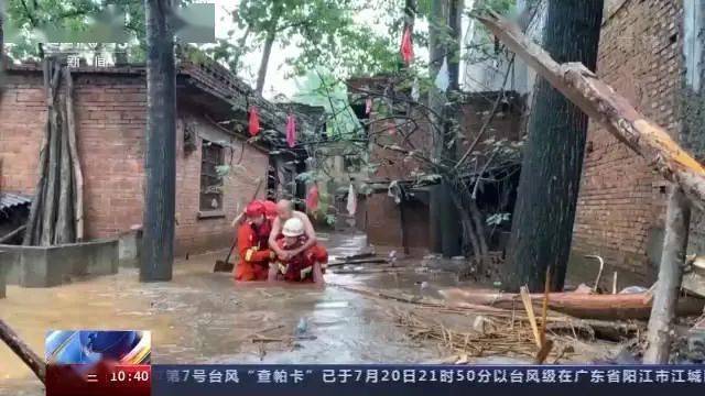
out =
<svg viewBox="0 0 705 396"><path fill-rule="evenodd" d="M75 86L86 235L116 237L142 223L147 87L131 75L79 75Z"/></svg>

